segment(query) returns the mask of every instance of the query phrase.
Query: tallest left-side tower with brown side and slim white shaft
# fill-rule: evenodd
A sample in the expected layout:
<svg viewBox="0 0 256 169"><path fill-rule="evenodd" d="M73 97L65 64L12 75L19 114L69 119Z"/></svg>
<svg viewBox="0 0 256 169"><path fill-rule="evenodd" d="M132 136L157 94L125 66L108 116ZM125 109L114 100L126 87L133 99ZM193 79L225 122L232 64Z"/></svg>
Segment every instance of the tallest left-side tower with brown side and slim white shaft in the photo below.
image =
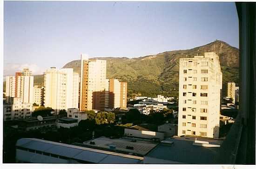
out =
<svg viewBox="0 0 256 169"><path fill-rule="evenodd" d="M104 110L106 66L105 60L89 61L81 55L80 111Z"/></svg>

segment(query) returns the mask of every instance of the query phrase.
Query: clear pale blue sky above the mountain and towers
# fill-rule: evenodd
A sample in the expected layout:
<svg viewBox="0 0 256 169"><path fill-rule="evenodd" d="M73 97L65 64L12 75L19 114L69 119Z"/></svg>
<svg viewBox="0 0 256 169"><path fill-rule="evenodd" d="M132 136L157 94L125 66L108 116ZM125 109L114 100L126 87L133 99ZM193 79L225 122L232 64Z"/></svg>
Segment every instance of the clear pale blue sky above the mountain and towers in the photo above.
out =
<svg viewBox="0 0 256 169"><path fill-rule="evenodd" d="M216 39L238 47L234 2L4 1L4 75L95 56L138 57Z"/></svg>

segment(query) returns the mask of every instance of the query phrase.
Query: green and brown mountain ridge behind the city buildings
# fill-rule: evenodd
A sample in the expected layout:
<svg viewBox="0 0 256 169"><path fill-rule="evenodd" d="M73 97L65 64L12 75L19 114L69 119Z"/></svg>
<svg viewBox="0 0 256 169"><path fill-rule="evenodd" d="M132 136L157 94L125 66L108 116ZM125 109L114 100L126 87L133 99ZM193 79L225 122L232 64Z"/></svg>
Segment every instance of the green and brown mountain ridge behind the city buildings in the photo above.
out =
<svg viewBox="0 0 256 169"><path fill-rule="evenodd" d="M222 96L226 96L227 82L239 82L239 50L223 41L215 41L189 50L174 50L157 55L137 58L94 57L107 60L107 78L128 82L128 97L135 95L178 96L179 58L203 56L204 52L215 51L220 56L222 68ZM80 74L80 60L67 63L63 68L73 68ZM34 82L43 82L42 75L35 75Z"/></svg>

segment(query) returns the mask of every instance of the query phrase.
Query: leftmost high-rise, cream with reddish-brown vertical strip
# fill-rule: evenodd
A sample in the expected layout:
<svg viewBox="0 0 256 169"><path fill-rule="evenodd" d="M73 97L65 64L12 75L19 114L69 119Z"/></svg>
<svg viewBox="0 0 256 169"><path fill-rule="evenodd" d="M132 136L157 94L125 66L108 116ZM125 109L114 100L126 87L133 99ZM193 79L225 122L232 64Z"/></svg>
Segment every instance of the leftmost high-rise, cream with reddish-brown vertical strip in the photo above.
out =
<svg viewBox="0 0 256 169"><path fill-rule="evenodd" d="M15 76L6 77L6 102L11 97L19 97L24 103L34 103L34 76L25 68L16 72Z"/></svg>

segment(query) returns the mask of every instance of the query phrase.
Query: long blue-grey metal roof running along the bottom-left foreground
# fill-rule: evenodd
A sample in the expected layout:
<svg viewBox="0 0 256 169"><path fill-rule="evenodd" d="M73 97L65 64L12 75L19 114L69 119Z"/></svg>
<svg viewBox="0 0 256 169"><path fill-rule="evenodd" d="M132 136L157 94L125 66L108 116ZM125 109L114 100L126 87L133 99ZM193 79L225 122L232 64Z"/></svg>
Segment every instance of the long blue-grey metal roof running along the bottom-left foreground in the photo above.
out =
<svg viewBox="0 0 256 169"><path fill-rule="evenodd" d="M143 160L143 158L139 156L62 144L37 138L21 138L17 141L16 146L91 163L141 163L141 160Z"/></svg>

